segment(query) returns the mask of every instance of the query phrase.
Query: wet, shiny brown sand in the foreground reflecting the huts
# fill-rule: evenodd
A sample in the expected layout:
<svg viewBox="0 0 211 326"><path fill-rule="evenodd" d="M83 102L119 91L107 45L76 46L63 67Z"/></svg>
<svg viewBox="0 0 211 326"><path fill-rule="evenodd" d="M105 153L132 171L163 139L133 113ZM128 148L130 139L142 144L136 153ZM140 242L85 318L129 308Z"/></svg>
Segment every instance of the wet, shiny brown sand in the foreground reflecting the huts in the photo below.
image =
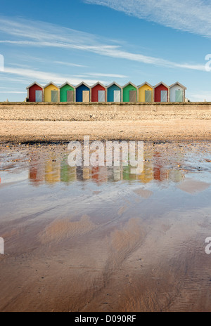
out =
<svg viewBox="0 0 211 326"><path fill-rule="evenodd" d="M0 311L211 311L210 149L148 143L132 176L1 145Z"/></svg>

